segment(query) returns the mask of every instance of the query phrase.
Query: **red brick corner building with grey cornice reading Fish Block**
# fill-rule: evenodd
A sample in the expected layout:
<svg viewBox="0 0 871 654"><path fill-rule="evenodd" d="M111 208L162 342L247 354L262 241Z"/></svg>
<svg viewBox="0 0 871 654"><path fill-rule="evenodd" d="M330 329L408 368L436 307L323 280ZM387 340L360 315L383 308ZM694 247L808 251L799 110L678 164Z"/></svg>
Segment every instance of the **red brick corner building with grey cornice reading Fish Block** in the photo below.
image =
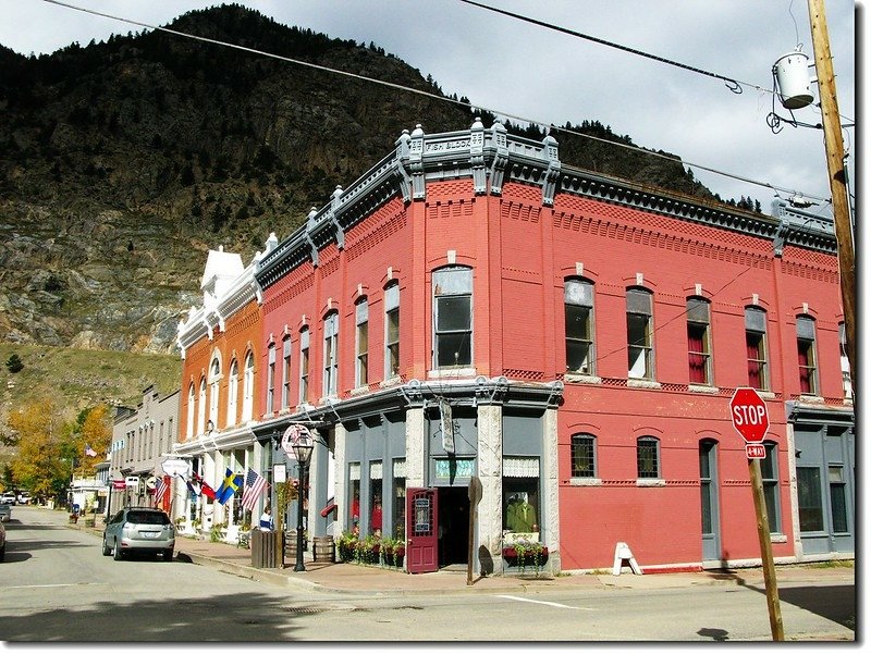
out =
<svg viewBox="0 0 871 654"><path fill-rule="evenodd" d="M610 568L617 543L647 569L741 565L728 400L751 385L775 557L852 556L832 221L774 210L572 169L498 123L406 132L256 262L253 452L309 425L309 536L400 534L412 571L470 545L511 570L517 539L553 569Z"/></svg>

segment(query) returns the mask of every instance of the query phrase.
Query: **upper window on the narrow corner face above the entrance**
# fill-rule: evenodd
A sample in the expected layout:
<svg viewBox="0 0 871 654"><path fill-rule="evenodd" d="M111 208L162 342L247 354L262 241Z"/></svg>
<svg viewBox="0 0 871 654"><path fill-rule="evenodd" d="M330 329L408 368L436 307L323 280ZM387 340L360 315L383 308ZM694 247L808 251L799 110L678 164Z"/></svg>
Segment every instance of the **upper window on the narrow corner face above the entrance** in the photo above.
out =
<svg viewBox="0 0 871 654"><path fill-rule="evenodd" d="M452 266L432 273L436 368L471 365L471 269Z"/></svg>

